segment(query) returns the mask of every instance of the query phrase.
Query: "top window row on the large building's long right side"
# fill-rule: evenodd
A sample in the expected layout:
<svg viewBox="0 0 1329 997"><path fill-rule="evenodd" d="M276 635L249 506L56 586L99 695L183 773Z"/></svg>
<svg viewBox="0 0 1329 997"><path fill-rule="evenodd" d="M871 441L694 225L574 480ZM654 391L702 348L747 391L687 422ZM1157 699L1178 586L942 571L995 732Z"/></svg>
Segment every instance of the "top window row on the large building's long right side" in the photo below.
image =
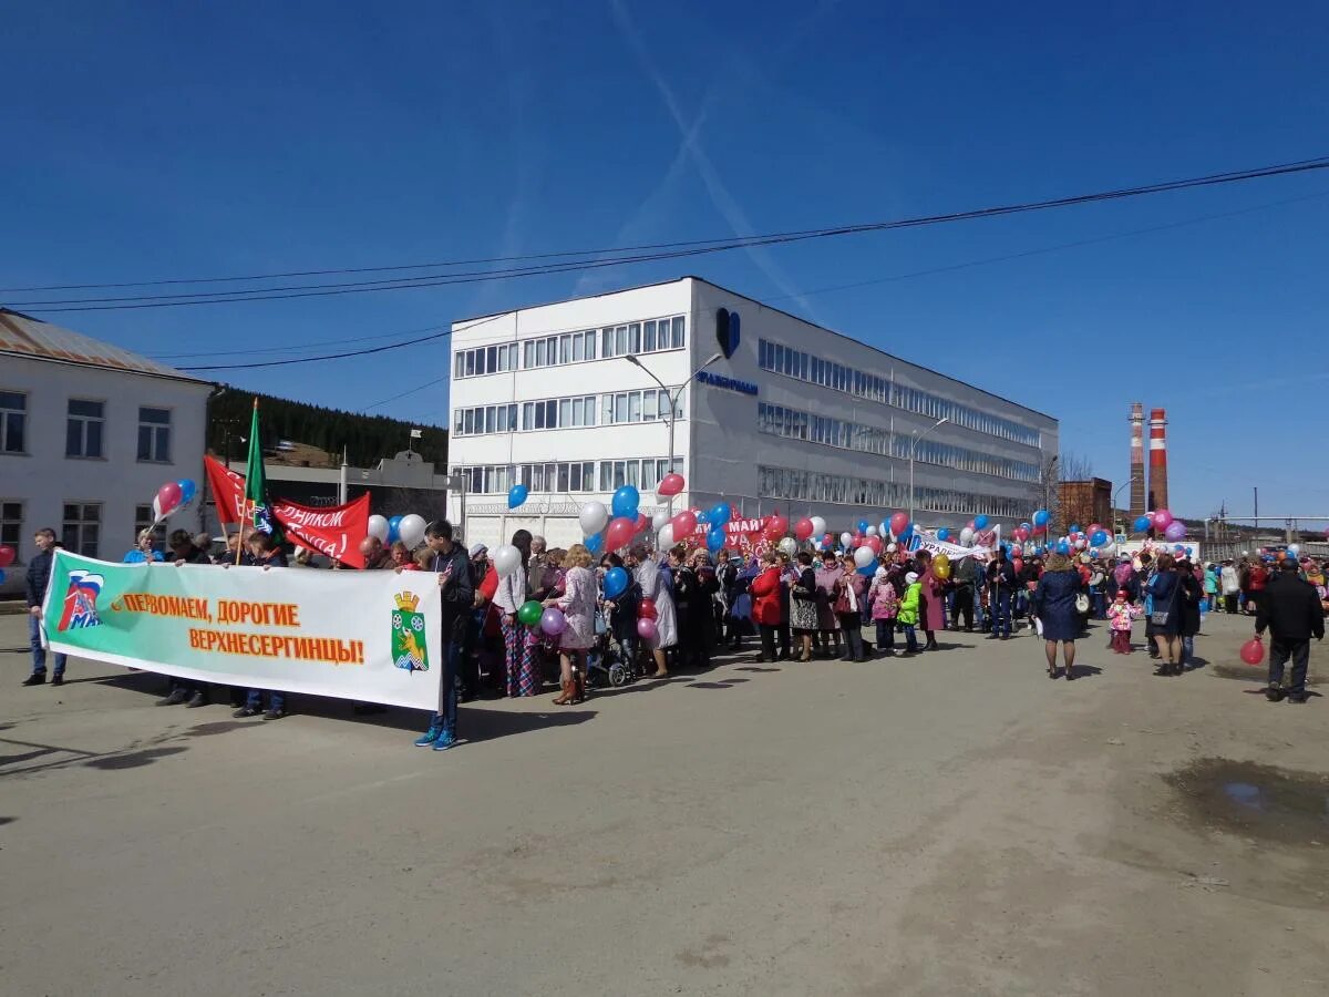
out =
<svg viewBox="0 0 1329 997"><path fill-rule="evenodd" d="M966 429L975 429L997 436L1002 440L1022 443L1026 447L1039 445L1038 429L1031 429L1011 419L981 412L977 408L962 405L958 401L932 395L920 388L910 388L881 378L876 374L857 371L852 367L823 360L817 356L771 343L766 339L758 342L758 364L764 371L783 374L787 378L804 380L811 384L820 384L833 391L843 391L856 397L880 401L884 405L893 405L906 412L917 412L929 419L946 417L956 425Z"/></svg>

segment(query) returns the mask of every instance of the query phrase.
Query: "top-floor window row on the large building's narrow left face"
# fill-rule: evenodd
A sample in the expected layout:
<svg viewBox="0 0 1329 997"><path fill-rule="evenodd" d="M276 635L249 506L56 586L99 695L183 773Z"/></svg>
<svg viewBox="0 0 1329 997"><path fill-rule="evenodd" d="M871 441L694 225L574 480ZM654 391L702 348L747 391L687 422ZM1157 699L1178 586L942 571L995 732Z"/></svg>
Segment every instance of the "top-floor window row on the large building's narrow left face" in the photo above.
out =
<svg viewBox="0 0 1329 997"><path fill-rule="evenodd" d="M516 370L537 370L565 363L611 356L635 356L654 354L661 350L682 350L687 342L687 322L683 315L646 322L626 322L621 326L605 326L601 330L587 328L579 332L524 339L520 343L501 346L480 346L473 350L460 350L453 355L453 378L478 378L485 374L501 374ZM518 359L521 364L518 367Z"/></svg>

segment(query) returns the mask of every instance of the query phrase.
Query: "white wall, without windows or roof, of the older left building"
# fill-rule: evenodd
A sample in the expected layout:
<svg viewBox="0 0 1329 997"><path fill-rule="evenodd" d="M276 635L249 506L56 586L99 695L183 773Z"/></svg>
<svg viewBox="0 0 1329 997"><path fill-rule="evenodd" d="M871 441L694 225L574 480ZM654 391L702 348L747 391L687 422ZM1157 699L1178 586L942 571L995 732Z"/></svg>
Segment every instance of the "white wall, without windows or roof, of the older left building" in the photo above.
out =
<svg viewBox="0 0 1329 997"><path fill-rule="evenodd" d="M0 389L27 395L25 453L0 453L0 502L21 502L19 557L33 552L43 526L62 533L64 505L96 504L101 510L97 556L118 561L134 545L134 506L152 504L166 481L183 477L203 488L203 435L207 395L202 382L173 380L132 371L84 367L23 356L0 356ZM69 399L104 401L104 445L98 457L66 457ZM169 463L140 463L138 407L171 412ZM177 521L178 520L178 521ZM198 500L167 526L198 529ZM9 572L5 592L23 574ZM21 584L21 582L20 582Z"/></svg>

